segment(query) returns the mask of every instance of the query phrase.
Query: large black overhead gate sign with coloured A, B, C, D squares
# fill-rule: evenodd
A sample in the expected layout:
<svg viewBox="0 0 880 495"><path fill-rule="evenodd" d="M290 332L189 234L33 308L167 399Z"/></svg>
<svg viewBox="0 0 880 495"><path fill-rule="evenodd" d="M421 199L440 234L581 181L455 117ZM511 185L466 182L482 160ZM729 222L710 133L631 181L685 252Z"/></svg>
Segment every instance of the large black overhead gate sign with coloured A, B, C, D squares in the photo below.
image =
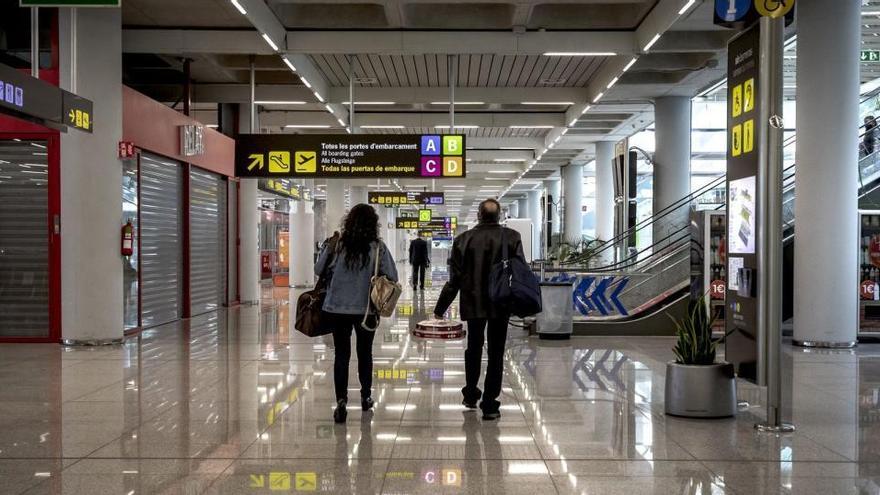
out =
<svg viewBox="0 0 880 495"><path fill-rule="evenodd" d="M235 143L235 174L462 178L465 150L465 137L460 134L243 134Z"/></svg>

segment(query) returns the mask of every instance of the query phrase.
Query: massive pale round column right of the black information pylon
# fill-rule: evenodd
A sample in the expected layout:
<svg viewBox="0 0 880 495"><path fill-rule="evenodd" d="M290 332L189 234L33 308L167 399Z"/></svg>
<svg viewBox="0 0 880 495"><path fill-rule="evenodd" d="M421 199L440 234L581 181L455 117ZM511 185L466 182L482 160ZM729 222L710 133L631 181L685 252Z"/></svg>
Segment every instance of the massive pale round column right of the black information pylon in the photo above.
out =
<svg viewBox="0 0 880 495"><path fill-rule="evenodd" d="M857 0L813 0L797 8L799 342L856 341L860 8Z"/></svg>

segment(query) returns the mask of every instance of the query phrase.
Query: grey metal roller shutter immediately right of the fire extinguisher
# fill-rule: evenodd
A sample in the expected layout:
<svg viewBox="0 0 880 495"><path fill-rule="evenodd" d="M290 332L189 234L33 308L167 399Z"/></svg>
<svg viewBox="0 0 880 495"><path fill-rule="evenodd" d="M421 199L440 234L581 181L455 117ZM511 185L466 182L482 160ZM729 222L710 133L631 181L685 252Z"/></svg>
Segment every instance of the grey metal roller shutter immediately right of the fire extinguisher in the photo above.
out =
<svg viewBox="0 0 880 495"><path fill-rule="evenodd" d="M141 155L141 324L181 317L183 300L182 167Z"/></svg>

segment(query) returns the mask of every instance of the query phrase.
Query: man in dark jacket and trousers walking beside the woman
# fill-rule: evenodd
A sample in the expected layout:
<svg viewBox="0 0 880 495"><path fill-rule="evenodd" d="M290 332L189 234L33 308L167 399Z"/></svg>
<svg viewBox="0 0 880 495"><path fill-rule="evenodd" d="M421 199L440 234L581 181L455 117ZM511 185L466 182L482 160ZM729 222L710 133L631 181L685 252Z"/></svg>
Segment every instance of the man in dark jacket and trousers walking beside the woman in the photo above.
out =
<svg viewBox="0 0 880 495"><path fill-rule="evenodd" d="M508 245L510 256L523 258L522 240L517 231L502 227L501 205L494 199L480 203L479 223L476 227L455 238L449 258L449 281L443 287L434 315L441 318L455 296L460 292L461 317L468 324L468 345L464 353L465 387L462 404L476 409L480 402L483 419L501 417L498 396L501 395L501 378L504 374L504 345L507 341L507 324L510 312L489 300L489 272L492 265L501 261L501 238ZM486 327L488 326L488 332ZM480 362L483 359L483 341L488 339L489 363L486 381L481 392Z"/></svg>

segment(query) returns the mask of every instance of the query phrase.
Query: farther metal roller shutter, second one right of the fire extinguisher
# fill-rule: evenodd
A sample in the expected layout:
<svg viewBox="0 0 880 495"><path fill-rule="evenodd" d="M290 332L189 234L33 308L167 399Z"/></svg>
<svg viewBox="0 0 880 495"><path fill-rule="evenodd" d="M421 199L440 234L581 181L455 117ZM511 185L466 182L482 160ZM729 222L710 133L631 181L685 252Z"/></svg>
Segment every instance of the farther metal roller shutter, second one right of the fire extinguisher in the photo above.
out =
<svg viewBox="0 0 880 495"><path fill-rule="evenodd" d="M226 302L226 181L193 167L189 191L190 301L192 315Z"/></svg>

